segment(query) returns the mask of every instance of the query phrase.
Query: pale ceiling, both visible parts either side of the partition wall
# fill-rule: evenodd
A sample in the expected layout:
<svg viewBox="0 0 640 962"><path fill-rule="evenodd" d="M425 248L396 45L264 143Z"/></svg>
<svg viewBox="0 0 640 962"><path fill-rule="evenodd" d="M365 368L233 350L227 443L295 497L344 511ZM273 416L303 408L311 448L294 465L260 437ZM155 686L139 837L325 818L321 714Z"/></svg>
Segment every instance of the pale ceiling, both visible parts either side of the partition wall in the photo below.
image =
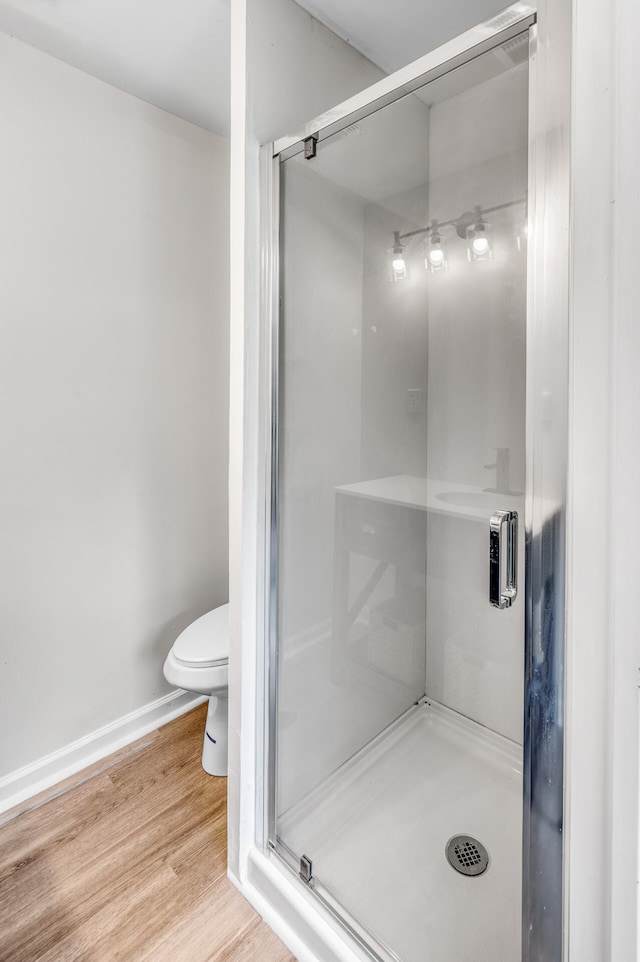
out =
<svg viewBox="0 0 640 962"><path fill-rule="evenodd" d="M386 72L504 0L299 0ZM230 0L0 0L0 30L114 87L229 134Z"/></svg>

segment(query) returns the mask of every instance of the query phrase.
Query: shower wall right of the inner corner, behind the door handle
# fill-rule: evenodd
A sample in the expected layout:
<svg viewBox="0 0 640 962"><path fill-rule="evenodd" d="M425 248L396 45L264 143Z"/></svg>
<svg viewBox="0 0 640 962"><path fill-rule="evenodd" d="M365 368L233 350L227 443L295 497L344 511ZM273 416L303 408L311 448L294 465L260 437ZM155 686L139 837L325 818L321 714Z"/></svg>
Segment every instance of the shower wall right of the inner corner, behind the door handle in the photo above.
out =
<svg viewBox="0 0 640 962"><path fill-rule="evenodd" d="M511 70L431 109L430 218L450 220L526 197L527 74ZM469 263L447 233L449 270L430 276L427 462L431 479L495 488L496 449L524 492L525 204L487 215L493 260ZM523 604L488 602L488 525L429 512L427 694L515 741L522 739ZM519 583L524 584L520 509Z"/></svg>

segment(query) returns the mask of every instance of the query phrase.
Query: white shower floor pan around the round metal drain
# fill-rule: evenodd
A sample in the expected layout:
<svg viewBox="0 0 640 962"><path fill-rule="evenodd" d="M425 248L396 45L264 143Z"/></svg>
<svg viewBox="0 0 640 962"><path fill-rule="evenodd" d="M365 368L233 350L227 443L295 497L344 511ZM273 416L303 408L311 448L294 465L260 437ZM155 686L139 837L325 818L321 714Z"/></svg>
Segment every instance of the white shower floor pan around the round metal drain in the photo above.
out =
<svg viewBox="0 0 640 962"><path fill-rule="evenodd" d="M319 894L383 959L521 958L522 751L425 700L279 820ZM489 854L465 876L447 843Z"/></svg>

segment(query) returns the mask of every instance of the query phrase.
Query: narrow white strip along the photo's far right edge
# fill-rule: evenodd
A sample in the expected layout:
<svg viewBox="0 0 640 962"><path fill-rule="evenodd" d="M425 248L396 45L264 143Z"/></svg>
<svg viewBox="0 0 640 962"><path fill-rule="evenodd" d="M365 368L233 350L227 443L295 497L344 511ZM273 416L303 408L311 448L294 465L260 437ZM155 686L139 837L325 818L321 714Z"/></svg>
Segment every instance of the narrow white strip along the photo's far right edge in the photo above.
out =
<svg viewBox="0 0 640 962"><path fill-rule="evenodd" d="M612 429L612 498L615 519L612 545L613 718L610 818L615 853L611 872L611 958L640 959L638 928L638 685L640 684L640 285L634 243L640 218L638 168L640 125L637 90L640 63L637 37L640 7L619 0L614 60L616 91L614 231L614 397Z"/></svg>

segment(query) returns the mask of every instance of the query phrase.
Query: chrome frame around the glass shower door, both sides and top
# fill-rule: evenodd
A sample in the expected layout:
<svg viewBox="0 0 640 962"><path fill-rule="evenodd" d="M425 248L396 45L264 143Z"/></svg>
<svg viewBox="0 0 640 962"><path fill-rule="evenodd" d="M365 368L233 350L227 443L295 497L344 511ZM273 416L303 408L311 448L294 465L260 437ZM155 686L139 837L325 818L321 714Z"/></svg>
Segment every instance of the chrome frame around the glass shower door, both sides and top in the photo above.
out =
<svg viewBox="0 0 640 962"><path fill-rule="evenodd" d="M261 149L260 395L264 420L260 447L265 468L261 547L266 584L260 593L266 642L262 666L266 717L264 767L258 772L259 783L264 779L264 793L257 800L256 814L263 829L262 849L274 852L280 163L300 153L308 137L321 141L529 28L522 962L562 962L571 24L568 2L541 0L537 9L541 20L536 24L536 5L514 4L493 21L467 31L316 118L295 137ZM553 33L554 44L546 42L549 33ZM295 869L291 858L285 857L285 861ZM362 949L360 933L341 921ZM377 958L375 953L372 957Z"/></svg>

